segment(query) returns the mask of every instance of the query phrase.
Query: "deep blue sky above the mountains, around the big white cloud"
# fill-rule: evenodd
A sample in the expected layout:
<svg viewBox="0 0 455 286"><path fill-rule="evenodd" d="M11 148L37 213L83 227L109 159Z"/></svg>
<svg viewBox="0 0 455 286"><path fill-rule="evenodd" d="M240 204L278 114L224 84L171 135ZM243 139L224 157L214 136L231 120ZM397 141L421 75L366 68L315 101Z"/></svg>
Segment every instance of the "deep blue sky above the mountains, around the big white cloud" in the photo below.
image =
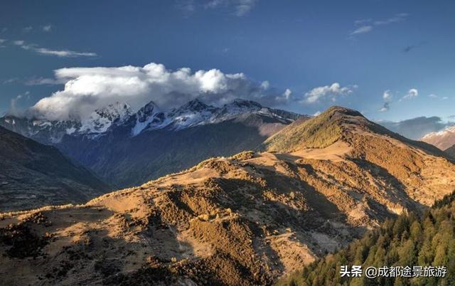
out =
<svg viewBox="0 0 455 286"><path fill-rule="evenodd" d="M241 82L228 76L230 92L255 100L263 91L257 101L295 112L336 104L373 120L449 120L454 15L455 1L2 1L0 113L58 90L60 99L74 96L63 86L70 79L87 83L87 70L66 70L68 78L54 70L105 67L110 76L116 67L159 63L164 75L191 68L191 80L197 70L243 73ZM112 78L102 84L111 90ZM204 84L184 87L206 92Z"/></svg>

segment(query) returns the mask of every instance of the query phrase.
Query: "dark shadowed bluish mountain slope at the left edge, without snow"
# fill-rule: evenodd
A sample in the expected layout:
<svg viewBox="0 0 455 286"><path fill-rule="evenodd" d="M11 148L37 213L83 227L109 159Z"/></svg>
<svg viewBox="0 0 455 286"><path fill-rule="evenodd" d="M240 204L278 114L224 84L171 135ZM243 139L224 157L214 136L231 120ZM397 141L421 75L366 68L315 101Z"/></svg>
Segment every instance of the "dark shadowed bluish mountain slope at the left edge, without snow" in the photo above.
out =
<svg viewBox="0 0 455 286"><path fill-rule="evenodd" d="M109 187L84 167L0 127L0 211L82 203Z"/></svg>

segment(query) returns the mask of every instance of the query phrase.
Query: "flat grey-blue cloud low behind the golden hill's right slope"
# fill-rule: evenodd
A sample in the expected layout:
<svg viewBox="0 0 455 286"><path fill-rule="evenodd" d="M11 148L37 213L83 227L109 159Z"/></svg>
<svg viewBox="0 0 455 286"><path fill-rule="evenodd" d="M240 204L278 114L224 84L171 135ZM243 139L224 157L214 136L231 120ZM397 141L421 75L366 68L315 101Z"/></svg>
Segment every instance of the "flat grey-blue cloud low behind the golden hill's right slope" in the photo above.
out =
<svg viewBox="0 0 455 286"><path fill-rule="evenodd" d="M437 116L422 116L399 122L382 121L378 123L387 129L397 132L398 134L410 139L419 139L425 134L437 132L447 126L453 125L453 122L444 122L441 117Z"/></svg>

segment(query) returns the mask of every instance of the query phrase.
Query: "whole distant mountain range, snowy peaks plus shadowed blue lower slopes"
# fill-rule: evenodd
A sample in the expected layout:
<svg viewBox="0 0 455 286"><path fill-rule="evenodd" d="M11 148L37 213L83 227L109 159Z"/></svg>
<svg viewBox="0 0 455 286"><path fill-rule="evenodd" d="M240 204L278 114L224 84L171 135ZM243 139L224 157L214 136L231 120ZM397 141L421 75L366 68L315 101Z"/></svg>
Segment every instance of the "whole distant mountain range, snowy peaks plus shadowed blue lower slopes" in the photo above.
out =
<svg viewBox="0 0 455 286"><path fill-rule="evenodd" d="M0 126L52 144L109 184L134 186L214 156L254 149L309 117L235 100L222 107L193 100L161 110L154 102L133 112L126 103L95 110L88 120L48 121L6 116Z"/></svg>

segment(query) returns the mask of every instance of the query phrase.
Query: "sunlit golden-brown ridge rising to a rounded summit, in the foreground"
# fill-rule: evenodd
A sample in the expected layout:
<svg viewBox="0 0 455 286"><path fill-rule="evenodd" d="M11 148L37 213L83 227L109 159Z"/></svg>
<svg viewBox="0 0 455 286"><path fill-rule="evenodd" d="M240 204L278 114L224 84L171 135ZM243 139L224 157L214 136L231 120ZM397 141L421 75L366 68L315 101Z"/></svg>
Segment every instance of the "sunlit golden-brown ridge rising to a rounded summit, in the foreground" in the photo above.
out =
<svg viewBox="0 0 455 286"><path fill-rule="evenodd" d="M342 107L294 122L260 149L82 206L3 214L0 276L6 284L269 285L455 189L443 152Z"/></svg>

